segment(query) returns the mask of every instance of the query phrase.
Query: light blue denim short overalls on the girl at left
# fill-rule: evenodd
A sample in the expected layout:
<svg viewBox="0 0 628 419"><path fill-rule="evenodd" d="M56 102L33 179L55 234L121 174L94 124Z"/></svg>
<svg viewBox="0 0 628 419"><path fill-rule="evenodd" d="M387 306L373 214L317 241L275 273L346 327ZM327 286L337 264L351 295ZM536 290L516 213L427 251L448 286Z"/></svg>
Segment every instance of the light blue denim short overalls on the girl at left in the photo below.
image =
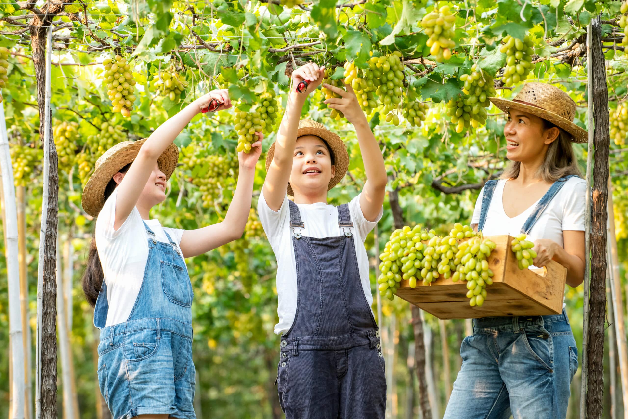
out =
<svg viewBox="0 0 628 419"><path fill-rule="evenodd" d="M169 243L159 242L144 227L148 259L128 320L104 327L109 309L104 281L94 308L100 393L114 419L164 413L195 419L192 284L168 233Z"/></svg>

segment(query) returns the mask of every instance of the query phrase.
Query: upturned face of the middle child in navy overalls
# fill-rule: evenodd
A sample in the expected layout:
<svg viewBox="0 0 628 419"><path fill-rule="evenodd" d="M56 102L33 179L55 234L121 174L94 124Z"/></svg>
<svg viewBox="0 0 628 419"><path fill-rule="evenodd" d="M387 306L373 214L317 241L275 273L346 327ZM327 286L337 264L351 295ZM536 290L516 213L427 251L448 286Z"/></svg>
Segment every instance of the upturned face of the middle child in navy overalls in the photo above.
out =
<svg viewBox="0 0 628 419"><path fill-rule="evenodd" d="M316 193L324 190L335 173L332 156L325 143L313 135L296 139L292 160L290 186L301 193Z"/></svg>

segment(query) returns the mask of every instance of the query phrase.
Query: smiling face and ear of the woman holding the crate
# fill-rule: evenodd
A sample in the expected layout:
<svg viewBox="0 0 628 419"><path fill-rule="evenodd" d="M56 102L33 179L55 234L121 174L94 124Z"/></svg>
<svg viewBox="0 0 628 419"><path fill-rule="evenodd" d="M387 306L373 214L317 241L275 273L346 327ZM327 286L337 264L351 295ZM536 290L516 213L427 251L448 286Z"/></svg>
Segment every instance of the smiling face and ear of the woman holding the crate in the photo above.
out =
<svg viewBox="0 0 628 419"><path fill-rule="evenodd" d="M545 156L549 144L553 143L560 129L545 128L546 122L536 115L512 109L508 114L504 136L506 136L506 158L511 161L532 161Z"/></svg>

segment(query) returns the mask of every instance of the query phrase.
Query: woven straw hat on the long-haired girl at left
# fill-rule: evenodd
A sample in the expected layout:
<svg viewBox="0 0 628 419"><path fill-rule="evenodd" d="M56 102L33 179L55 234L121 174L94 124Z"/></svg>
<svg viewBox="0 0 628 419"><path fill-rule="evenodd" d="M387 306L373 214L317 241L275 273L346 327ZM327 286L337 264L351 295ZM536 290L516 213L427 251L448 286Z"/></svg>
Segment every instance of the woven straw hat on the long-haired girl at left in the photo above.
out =
<svg viewBox="0 0 628 419"><path fill-rule="evenodd" d="M146 138L138 139L138 141L122 141L122 143L118 143L105 151L98 158L94 173L89 177L85 188L83 188L82 204L87 214L92 215L92 217L98 216L102 206L105 204L105 188L107 184L121 168L135 160L144 141L146 141ZM176 148L175 144L170 144L157 159L160 170L166 175L166 180L175 171L178 160L179 149Z"/></svg>

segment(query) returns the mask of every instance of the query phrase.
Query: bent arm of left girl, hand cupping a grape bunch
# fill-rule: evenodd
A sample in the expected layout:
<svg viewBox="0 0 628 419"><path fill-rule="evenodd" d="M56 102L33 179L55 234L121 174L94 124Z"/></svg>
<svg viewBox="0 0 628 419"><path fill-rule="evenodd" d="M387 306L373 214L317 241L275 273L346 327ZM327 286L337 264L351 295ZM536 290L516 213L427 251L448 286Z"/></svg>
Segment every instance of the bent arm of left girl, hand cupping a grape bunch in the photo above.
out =
<svg viewBox="0 0 628 419"><path fill-rule="evenodd" d="M198 256L242 237L244 227L246 227L246 222L249 219L255 165L262 151L264 138L262 133L256 134L259 141L251 144L251 153L246 154L243 151L238 153L240 170L236 192L234 192L234 198L229 204L225 219L211 226L185 231L179 244L184 258Z"/></svg>

